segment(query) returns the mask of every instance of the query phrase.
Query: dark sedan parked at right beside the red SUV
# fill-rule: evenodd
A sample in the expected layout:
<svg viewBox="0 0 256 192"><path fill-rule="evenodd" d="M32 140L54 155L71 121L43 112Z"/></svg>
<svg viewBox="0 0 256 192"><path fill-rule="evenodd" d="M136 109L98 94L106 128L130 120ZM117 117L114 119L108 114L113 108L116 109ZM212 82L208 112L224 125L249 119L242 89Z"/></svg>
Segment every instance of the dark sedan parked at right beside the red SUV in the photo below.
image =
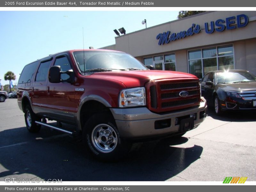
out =
<svg viewBox="0 0 256 192"><path fill-rule="evenodd" d="M201 91L217 115L225 110L256 110L256 77L248 71L208 72L201 81Z"/></svg>

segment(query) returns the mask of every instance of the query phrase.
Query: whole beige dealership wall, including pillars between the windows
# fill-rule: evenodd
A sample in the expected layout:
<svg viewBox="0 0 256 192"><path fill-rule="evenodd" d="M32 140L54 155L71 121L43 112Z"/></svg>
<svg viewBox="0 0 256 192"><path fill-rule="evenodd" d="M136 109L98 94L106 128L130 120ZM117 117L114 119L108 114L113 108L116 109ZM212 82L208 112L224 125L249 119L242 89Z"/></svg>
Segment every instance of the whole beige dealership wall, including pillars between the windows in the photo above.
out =
<svg viewBox="0 0 256 192"><path fill-rule="evenodd" d="M205 32L204 23L207 22L210 27L211 21L215 22L218 19L226 20L228 17L236 17L240 14L248 16L249 23L247 26L232 30L225 29L222 32L214 31L212 34ZM236 20L235 22L237 23ZM171 31L172 34L184 30L187 31L193 23L200 25L200 33L172 41L168 44L158 45L159 40L156 39L156 36L159 33ZM224 24L226 25L226 21ZM233 44L235 68L249 70L256 75L256 11L201 13L116 37L116 45L105 48L127 52L142 63L145 57L175 53L176 71L189 72L189 50L225 44Z"/></svg>

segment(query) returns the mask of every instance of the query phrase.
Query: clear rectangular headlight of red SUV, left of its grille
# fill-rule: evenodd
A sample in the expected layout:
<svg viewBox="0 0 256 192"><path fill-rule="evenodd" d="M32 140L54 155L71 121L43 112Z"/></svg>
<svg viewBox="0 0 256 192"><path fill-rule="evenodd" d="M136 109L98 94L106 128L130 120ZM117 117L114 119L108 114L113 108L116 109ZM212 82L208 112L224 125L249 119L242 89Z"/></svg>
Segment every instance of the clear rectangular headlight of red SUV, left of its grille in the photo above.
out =
<svg viewBox="0 0 256 192"><path fill-rule="evenodd" d="M146 105L145 88L124 89L119 95L119 107L134 107Z"/></svg>

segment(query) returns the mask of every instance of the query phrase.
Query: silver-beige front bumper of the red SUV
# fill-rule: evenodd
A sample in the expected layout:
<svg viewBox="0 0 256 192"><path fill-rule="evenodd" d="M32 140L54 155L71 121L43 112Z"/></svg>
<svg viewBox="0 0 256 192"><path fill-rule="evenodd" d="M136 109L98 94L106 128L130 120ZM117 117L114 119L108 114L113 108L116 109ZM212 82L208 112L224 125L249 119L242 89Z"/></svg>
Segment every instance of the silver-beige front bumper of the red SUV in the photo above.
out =
<svg viewBox="0 0 256 192"><path fill-rule="evenodd" d="M148 108L110 108L120 136L129 139L167 136L180 132L180 124L175 124L176 118L187 118L196 114L194 127L202 123L206 117L206 100L202 97L200 106L196 108L183 109L180 111L163 114L152 113ZM169 121L166 125L164 122ZM162 121L163 120L163 121ZM158 122L163 122L163 128L156 127Z"/></svg>

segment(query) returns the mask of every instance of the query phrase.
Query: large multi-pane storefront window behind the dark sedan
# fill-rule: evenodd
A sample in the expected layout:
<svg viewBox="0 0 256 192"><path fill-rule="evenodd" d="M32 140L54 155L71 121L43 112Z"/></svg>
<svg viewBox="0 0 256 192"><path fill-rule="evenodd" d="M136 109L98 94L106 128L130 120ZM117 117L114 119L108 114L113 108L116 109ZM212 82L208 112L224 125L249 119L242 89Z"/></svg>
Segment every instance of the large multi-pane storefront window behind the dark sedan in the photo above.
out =
<svg viewBox="0 0 256 192"><path fill-rule="evenodd" d="M188 64L189 73L198 78L209 71L234 69L233 45L188 51Z"/></svg>

